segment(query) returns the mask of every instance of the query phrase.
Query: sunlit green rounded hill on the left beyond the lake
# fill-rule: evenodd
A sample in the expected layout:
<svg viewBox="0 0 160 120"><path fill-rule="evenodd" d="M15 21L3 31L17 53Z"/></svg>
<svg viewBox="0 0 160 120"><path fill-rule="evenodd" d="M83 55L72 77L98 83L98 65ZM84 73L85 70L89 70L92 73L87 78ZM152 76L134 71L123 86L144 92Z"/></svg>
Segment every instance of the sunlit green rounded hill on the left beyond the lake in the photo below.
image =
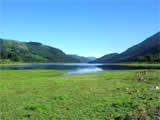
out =
<svg viewBox="0 0 160 120"><path fill-rule="evenodd" d="M0 39L0 60L23 62L80 62L63 51L38 42Z"/></svg>

